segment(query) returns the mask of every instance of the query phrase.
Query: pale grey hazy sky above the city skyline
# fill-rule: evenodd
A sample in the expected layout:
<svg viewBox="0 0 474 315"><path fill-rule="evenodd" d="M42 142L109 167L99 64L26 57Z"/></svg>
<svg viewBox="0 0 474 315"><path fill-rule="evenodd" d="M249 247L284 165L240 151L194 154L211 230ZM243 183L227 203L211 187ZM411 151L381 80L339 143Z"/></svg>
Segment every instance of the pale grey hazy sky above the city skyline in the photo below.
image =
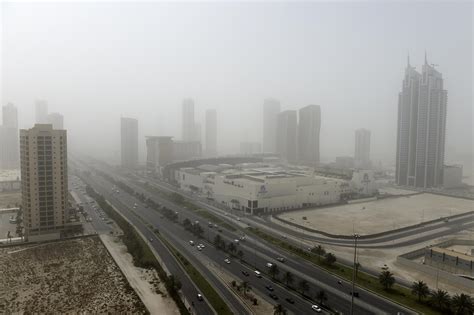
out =
<svg viewBox="0 0 474 315"><path fill-rule="evenodd" d="M407 53L448 90L448 161L473 148L471 2L3 3L1 104L30 127L34 101L65 116L73 149L111 156L121 115L140 135L181 136L181 102L216 108L220 152L261 141L262 103L318 104L321 156L353 155L372 131L372 158L395 158ZM204 130L204 128L203 128ZM140 138L144 155L144 138ZM115 152L115 153L114 153Z"/></svg>

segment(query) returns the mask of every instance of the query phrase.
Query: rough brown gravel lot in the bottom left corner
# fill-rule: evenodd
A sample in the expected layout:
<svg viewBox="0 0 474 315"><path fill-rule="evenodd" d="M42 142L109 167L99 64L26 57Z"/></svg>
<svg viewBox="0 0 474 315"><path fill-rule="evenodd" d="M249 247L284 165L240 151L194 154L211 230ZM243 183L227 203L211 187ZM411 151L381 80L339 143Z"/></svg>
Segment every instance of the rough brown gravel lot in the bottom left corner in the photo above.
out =
<svg viewBox="0 0 474 315"><path fill-rule="evenodd" d="M97 237L0 248L0 309L8 313L145 313Z"/></svg>

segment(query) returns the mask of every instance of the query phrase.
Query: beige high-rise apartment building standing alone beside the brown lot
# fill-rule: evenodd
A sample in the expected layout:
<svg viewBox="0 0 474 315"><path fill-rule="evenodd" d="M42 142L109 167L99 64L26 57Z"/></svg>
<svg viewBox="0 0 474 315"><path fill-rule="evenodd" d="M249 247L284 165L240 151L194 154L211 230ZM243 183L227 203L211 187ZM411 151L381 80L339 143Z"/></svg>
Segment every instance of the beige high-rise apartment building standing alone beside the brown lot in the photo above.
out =
<svg viewBox="0 0 474 315"><path fill-rule="evenodd" d="M66 130L20 130L20 157L25 237L58 238L69 221Z"/></svg>

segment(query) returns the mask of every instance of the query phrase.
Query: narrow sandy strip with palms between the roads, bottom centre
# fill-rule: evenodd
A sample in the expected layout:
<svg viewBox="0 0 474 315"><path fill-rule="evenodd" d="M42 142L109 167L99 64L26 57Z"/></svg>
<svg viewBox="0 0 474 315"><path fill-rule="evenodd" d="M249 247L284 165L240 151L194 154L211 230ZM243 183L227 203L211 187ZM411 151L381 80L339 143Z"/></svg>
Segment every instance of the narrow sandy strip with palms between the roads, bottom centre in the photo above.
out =
<svg viewBox="0 0 474 315"><path fill-rule="evenodd" d="M211 270L226 285L228 285L228 287L234 292L234 294L238 295L243 300L243 302L250 308L253 314L273 314L273 305L262 299L257 293L253 292L252 289L248 290L247 295L244 296L242 291L238 291L237 288L232 287L232 281L235 281L237 284L239 284L242 281L241 279L235 278L230 273L213 264L209 265L209 270ZM257 298L257 305L253 305L251 297Z"/></svg>

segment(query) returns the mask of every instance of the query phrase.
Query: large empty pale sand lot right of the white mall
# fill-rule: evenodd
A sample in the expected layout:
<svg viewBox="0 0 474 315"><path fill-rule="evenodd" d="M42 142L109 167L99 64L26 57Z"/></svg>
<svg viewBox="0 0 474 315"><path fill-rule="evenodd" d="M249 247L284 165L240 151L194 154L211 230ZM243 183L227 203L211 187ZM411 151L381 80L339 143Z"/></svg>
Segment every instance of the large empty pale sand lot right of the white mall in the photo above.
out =
<svg viewBox="0 0 474 315"><path fill-rule="evenodd" d="M433 194L407 195L288 212L281 218L332 234L373 234L474 210L474 201ZM306 217L306 220L303 220Z"/></svg>

